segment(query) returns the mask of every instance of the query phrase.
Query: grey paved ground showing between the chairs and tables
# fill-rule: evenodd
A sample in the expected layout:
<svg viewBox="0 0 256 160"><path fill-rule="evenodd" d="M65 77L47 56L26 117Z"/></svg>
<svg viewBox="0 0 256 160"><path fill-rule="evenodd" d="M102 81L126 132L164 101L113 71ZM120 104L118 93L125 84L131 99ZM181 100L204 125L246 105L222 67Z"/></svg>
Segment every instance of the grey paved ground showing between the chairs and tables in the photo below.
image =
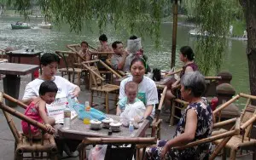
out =
<svg viewBox="0 0 256 160"><path fill-rule="evenodd" d="M21 82L20 82L20 99L22 98L24 94L24 89L26 87L26 84L30 82L31 76L26 75L21 77ZM84 101L89 100L89 95L90 91L84 89L84 86L81 87L82 92L79 95L79 101L81 103L84 103ZM0 80L0 91L3 91L3 80ZM112 104L113 106L113 104ZM113 108L113 107L112 107ZM18 111L24 112L24 110L20 107L15 108ZM99 107L98 109L102 110L102 107ZM111 113L114 113L114 110L110 111ZM165 122L165 120L168 117L167 112L162 112L161 113L161 118L164 119L164 122L162 124L162 129L161 129L161 139L166 140L166 139L172 139L172 136L175 132L175 127L170 127L168 123ZM17 129L21 130L20 128L20 120L15 118L15 124ZM6 119L3 116L3 112L0 111L0 160L9 160L9 159L14 159L14 148L15 148L15 140L13 137L13 134L11 133L8 124L6 123ZM64 154L65 156L65 154ZM79 159L79 157L73 157L73 158L66 158L66 159ZM217 159L220 159L219 157ZM246 157L240 157L237 159L252 159L252 156L246 156Z"/></svg>

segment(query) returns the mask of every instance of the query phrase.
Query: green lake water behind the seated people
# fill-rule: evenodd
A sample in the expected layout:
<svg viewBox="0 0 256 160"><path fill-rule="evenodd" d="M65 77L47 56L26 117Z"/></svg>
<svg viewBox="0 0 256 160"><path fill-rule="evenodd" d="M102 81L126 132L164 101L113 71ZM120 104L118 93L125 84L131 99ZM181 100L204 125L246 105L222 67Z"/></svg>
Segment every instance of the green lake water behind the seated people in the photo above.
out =
<svg viewBox="0 0 256 160"><path fill-rule="evenodd" d="M0 17L0 49L8 46L17 49L35 48L44 50L44 52L55 52L55 50L66 50L66 45L70 43L80 43L87 41L91 46L99 45L99 31L97 24L93 20L90 21L91 32L84 27L81 33L76 34L70 32L67 25L61 27L61 30L53 28L52 30L40 29L37 26L42 19L31 18L31 26L35 26L30 30L11 30L11 23L22 21L21 17ZM143 25L143 24L142 24ZM182 66L178 60L178 49L183 45L193 45L196 41L195 37L189 36L189 30L193 29L189 26L178 26L177 29L177 66ZM127 31L114 31L112 26L107 26L104 30L108 36L108 42L119 40L126 45L126 39L130 37ZM139 36L139 35L137 35ZM172 24L163 23L161 25L160 49L154 49L154 39L143 36L143 49L148 55L149 65L158 67L162 70L170 68L171 49L172 49ZM247 42L229 40L224 56L222 70L230 71L233 75L231 81L236 93L249 93L248 67L246 56ZM195 53L196 54L196 53ZM212 75L214 76L214 75Z"/></svg>

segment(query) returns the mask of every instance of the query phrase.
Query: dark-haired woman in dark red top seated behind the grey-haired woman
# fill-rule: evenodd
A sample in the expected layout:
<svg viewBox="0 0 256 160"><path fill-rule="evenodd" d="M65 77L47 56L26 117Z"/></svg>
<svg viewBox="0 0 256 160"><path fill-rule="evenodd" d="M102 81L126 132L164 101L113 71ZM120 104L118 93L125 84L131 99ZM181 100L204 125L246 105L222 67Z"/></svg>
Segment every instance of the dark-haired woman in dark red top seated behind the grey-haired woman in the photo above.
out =
<svg viewBox="0 0 256 160"><path fill-rule="evenodd" d="M185 73L190 71L198 71L198 66L194 62L195 54L193 50L189 46L183 46L180 49L179 60L183 62L183 70L180 72L180 78L183 77ZM180 79L178 79L174 83L167 84L165 105L171 106L171 100L176 98L176 94L173 92L174 89L177 88L177 85L180 83Z"/></svg>

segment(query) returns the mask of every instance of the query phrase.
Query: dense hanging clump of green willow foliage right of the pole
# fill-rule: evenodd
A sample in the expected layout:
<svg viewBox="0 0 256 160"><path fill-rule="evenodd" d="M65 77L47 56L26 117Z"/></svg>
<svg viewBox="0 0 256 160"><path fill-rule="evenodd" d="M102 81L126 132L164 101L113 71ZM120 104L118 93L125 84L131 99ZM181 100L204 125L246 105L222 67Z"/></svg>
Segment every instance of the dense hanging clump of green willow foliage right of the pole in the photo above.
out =
<svg viewBox="0 0 256 160"><path fill-rule="evenodd" d="M201 32L207 31L207 37L198 37L195 43L196 62L200 70L207 75L210 71L219 71L230 36L232 10L230 0L195 0L195 23Z"/></svg>

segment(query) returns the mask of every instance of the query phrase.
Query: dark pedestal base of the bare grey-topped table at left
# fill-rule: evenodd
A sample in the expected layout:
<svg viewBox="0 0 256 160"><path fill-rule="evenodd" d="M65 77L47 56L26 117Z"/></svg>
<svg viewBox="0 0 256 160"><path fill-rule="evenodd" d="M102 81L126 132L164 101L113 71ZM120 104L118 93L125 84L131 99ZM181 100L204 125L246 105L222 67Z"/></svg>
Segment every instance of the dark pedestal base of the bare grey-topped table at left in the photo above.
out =
<svg viewBox="0 0 256 160"><path fill-rule="evenodd" d="M17 75L6 75L3 77L3 91L5 94L9 94L14 97L16 100L19 99L20 93L20 77ZM9 100L5 100L7 106L15 107L16 104Z"/></svg>

